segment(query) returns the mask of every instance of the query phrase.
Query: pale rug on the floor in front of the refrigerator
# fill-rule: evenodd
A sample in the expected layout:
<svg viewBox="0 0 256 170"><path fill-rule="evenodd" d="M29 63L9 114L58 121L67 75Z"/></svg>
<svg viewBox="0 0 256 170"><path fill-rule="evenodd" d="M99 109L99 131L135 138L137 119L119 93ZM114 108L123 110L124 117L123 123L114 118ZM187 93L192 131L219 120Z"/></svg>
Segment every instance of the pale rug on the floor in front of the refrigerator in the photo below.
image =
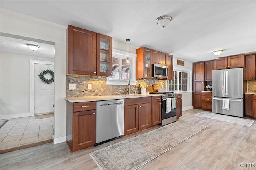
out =
<svg viewBox="0 0 256 170"><path fill-rule="evenodd" d="M251 119L244 119L244 118L233 117L233 116L228 116L228 115L221 115L221 114L207 112L207 111L203 111L203 112L195 114L195 115L200 116L200 117L210 118L210 119L216 119L216 120L220 120L220 121L227 121L230 123L236 123L236 124L240 124L240 125L246 125L246 126L251 126L254 123L254 120L251 120Z"/></svg>

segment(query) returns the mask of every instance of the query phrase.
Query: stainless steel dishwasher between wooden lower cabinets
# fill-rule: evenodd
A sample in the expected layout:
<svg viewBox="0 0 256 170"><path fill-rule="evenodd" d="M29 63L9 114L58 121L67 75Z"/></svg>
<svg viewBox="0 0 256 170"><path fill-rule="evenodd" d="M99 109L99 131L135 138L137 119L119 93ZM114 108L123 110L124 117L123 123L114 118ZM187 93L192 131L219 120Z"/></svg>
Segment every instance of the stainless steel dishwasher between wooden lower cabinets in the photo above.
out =
<svg viewBox="0 0 256 170"><path fill-rule="evenodd" d="M124 99L96 102L96 144L124 135Z"/></svg>

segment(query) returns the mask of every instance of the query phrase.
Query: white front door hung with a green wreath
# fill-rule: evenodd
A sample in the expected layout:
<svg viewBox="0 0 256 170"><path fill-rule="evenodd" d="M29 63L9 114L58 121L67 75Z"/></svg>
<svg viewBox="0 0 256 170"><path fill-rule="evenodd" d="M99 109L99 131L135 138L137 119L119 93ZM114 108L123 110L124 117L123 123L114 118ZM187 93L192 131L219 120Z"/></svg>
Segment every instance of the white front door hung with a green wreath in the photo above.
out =
<svg viewBox="0 0 256 170"><path fill-rule="evenodd" d="M52 70L54 65L34 64L34 114L54 112L54 82L47 84L39 78L40 72ZM51 79L50 74L44 75L46 79Z"/></svg>

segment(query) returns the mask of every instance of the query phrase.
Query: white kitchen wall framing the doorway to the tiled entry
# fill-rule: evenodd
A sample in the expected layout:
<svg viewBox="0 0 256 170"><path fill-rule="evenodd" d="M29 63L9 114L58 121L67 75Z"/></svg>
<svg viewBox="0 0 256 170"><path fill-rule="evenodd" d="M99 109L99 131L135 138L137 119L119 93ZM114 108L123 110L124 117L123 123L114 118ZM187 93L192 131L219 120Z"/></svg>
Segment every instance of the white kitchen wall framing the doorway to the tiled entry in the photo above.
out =
<svg viewBox="0 0 256 170"><path fill-rule="evenodd" d="M66 28L1 8L1 32L55 43L54 143L66 141ZM1 64L4 64L1 61ZM1 82L3 84L4 82ZM1 87L2 89L2 87ZM9 90L9 89L8 89ZM11 90L11 89L10 89ZM3 91L1 90L1 95ZM2 106L1 106L2 107ZM2 113L1 113L2 114Z"/></svg>

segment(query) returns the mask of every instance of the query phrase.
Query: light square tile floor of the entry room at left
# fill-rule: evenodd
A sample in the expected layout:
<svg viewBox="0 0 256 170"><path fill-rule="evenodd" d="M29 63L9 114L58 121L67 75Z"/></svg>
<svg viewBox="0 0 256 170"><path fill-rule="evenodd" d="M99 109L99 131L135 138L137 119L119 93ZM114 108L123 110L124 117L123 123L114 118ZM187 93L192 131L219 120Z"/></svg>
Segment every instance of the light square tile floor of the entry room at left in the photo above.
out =
<svg viewBox="0 0 256 170"><path fill-rule="evenodd" d="M0 150L52 139L54 117L35 119L33 116L6 120L8 122L0 129Z"/></svg>

